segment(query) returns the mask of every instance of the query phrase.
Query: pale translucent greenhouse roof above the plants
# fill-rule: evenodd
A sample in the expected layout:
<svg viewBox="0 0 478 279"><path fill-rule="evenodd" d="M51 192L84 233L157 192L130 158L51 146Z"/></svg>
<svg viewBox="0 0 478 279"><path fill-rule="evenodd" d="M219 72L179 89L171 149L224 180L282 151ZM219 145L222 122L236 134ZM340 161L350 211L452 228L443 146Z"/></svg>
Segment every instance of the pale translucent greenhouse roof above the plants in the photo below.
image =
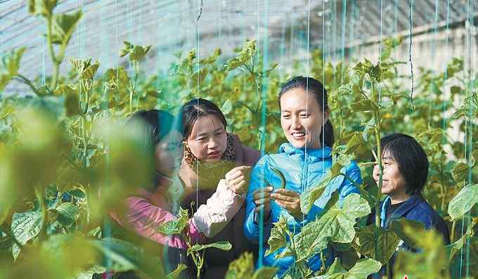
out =
<svg viewBox="0 0 478 279"><path fill-rule="evenodd" d="M449 6L447 1L413 1L413 32L463 25L468 10L478 11L477 1L471 5L465 0L450 0ZM153 71L167 68L175 53L192 48L207 56L219 47L228 56L245 39L267 38L271 57L304 58L308 47L335 53L397 32L406 35L410 25L405 0L203 0L198 20L200 6L200 0L66 0L56 11L84 11L66 57L98 58L101 71L127 63L118 56L122 41L153 45L143 66ZM49 51L41 36L45 26L28 13L27 1L0 1L0 53L27 46L22 72L30 78L49 71ZM263 49L260 44L259 52Z"/></svg>

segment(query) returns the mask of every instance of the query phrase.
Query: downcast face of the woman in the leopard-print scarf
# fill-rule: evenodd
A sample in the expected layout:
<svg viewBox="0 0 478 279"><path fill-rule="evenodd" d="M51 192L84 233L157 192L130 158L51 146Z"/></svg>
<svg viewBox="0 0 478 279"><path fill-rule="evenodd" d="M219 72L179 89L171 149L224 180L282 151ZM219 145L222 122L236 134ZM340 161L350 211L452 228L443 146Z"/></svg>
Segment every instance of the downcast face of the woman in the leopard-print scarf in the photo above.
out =
<svg viewBox="0 0 478 279"><path fill-rule="evenodd" d="M201 116L193 124L187 142L201 162L219 162L227 147L226 127L215 115Z"/></svg>

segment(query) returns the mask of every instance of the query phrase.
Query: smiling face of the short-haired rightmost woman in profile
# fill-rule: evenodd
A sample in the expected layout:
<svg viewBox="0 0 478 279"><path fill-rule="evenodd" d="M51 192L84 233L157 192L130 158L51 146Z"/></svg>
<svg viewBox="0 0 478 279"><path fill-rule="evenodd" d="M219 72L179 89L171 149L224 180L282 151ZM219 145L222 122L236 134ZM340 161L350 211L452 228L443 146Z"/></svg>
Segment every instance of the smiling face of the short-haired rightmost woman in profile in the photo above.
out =
<svg viewBox="0 0 478 279"><path fill-rule="evenodd" d="M387 151L382 155L382 166L382 194L389 195L392 198L392 204L408 200L410 196L406 193L406 180L400 172L399 164ZM380 179L378 164L373 167L373 179L378 184Z"/></svg>

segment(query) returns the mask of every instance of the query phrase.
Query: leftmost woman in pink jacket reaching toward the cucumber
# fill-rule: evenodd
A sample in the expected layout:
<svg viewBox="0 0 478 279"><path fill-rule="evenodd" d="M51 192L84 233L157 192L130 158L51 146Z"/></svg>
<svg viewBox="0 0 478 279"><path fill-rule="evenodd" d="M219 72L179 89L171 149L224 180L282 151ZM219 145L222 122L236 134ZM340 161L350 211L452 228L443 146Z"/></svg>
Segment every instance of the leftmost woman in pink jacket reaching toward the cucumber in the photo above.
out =
<svg viewBox="0 0 478 279"><path fill-rule="evenodd" d="M158 231L162 224L176 219L177 202L182 193L176 171L182 159L183 135L176 123L175 117L161 110L141 110L131 117L129 124L141 126L149 148L155 153L155 171L152 183L138 190L137 195L128 197L121 214L112 212L110 216L130 233L166 247L186 249L180 235L164 235ZM235 167L229 173L240 173L246 168ZM186 234L193 242L216 235L242 207L248 183L245 176L241 177L234 183L221 179L215 193L189 219ZM160 256L160 247L157 251ZM172 264L174 269L176 266Z"/></svg>

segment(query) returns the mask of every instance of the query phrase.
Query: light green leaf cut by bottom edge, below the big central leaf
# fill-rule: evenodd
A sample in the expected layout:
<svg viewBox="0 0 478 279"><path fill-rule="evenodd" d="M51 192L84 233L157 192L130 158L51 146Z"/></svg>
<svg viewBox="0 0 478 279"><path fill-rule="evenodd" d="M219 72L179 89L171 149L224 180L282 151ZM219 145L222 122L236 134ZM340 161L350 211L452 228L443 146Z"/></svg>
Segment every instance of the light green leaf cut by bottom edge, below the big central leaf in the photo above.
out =
<svg viewBox="0 0 478 279"><path fill-rule="evenodd" d="M356 262L355 266L347 271L340 259L335 258L334 263L324 275L316 276L311 279L367 279L368 275L380 271L382 264L373 259L361 259Z"/></svg>

